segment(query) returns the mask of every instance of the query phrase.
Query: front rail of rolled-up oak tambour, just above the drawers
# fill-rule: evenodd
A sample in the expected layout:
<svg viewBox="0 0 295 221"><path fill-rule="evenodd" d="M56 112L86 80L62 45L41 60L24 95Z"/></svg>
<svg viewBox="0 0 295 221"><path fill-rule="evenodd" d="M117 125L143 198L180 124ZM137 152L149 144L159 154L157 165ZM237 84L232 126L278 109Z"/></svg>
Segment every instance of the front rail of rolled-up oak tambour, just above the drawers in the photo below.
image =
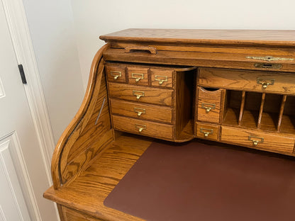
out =
<svg viewBox="0 0 295 221"><path fill-rule="evenodd" d="M145 52L125 53L120 48L110 48L104 52L104 59L109 61L120 62L138 62L146 64L173 64L188 65L196 67L223 67L231 69L253 69L265 71L265 68L255 67L257 62L261 60L247 59L248 56L270 56L272 53L265 51L265 54L257 54L255 52L234 53L231 48L226 52L199 52L199 51L174 51L163 50L158 51L157 55L150 55ZM278 56L281 57L281 56ZM291 56L282 56L295 59L294 52ZM274 72L294 72L295 60L293 61L276 61L274 64L282 64L280 69L273 69Z"/></svg>

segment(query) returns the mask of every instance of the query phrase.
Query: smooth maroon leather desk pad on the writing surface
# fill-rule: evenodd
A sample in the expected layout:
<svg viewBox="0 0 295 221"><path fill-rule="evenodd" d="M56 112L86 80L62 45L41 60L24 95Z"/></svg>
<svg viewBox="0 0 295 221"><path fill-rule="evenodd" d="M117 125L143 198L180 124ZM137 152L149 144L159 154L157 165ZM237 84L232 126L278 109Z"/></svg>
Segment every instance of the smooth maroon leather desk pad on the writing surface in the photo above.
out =
<svg viewBox="0 0 295 221"><path fill-rule="evenodd" d="M145 220L294 220L295 161L198 142L153 142L104 201Z"/></svg>

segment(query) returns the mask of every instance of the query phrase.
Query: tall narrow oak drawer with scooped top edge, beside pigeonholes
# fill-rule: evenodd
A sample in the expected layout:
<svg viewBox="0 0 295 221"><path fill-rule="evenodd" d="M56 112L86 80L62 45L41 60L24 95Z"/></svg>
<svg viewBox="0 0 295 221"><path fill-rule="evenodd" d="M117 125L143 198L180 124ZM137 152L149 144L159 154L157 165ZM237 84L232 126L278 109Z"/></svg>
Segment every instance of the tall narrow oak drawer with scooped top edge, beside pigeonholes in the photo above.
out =
<svg viewBox="0 0 295 221"><path fill-rule="evenodd" d="M208 91L198 87L198 120L219 123L223 89Z"/></svg>

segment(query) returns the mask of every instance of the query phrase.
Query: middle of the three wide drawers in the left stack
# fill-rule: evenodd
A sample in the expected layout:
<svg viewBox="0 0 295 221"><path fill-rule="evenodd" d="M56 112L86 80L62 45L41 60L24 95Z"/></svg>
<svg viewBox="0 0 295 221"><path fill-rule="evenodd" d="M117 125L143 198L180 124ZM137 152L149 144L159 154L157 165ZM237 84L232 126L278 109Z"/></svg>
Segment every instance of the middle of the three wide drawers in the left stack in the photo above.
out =
<svg viewBox="0 0 295 221"><path fill-rule="evenodd" d="M140 120L172 123L172 108L111 99L111 113Z"/></svg>

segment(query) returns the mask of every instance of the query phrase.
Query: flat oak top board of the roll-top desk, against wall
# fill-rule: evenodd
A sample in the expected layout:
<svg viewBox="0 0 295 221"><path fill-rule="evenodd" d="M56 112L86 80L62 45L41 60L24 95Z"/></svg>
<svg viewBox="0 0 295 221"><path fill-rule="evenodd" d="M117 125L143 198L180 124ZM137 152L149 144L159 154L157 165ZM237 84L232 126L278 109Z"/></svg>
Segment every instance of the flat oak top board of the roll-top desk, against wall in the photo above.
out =
<svg viewBox="0 0 295 221"><path fill-rule="evenodd" d="M272 45L295 47L295 30L195 30L130 28L108 35L101 40L133 42L166 42L223 45Z"/></svg>

